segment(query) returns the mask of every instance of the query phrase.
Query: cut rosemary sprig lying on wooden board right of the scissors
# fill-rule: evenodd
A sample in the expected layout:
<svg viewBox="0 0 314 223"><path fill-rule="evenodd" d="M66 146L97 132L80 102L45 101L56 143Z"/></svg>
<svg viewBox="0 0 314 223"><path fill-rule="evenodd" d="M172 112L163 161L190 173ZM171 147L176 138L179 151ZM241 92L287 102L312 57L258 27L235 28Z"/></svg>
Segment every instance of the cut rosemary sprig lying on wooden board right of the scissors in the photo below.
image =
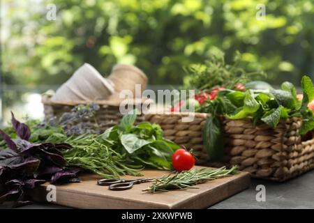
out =
<svg viewBox="0 0 314 223"><path fill-rule="evenodd" d="M175 172L169 175L162 176L150 185L146 190L147 192L165 192L169 190L184 190L186 188L193 188L194 185L205 183L209 180L217 178L224 178L237 174L237 167L231 169L220 167L219 169L202 168L193 169L190 171ZM194 187L195 188L195 187Z"/></svg>

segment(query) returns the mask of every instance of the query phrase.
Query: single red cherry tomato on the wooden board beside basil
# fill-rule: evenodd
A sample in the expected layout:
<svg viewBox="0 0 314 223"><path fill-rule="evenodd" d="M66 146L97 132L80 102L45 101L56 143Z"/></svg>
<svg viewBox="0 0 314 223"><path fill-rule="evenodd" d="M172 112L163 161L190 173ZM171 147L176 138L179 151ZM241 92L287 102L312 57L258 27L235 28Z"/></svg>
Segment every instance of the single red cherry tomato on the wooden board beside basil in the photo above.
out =
<svg viewBox="0 0 314 223"><path fill-rule="evenodd" d="M193 155L184 148L179 148L172 155L172 167L176 171L191 169L195 164Z"/></svg>

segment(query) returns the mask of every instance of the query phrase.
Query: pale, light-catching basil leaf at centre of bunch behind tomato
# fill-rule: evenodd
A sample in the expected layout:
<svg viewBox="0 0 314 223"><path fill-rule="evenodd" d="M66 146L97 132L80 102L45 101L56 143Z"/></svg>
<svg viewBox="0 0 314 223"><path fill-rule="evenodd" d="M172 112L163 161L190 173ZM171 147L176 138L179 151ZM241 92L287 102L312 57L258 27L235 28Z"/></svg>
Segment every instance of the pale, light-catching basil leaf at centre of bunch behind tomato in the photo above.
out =
<svg viewBox="0 0 314 223"><path fill-rule="evenodd" d="M150 144L150 141L139 139L136 134L122 134L121 144L124 146L128 153L134 153L139 148Z"/></svg>

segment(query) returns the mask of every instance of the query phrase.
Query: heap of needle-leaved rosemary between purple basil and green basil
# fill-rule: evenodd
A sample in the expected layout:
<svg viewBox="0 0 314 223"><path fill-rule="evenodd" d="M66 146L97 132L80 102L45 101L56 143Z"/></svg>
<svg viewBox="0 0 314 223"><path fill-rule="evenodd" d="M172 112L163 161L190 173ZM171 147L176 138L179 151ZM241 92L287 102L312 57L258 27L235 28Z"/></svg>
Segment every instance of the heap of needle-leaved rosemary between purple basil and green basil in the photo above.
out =
<svg viewBox="0 0 314 223"><path fill-rule="evenodd" d="M62 141L70 144L73 148L62 151L68 166L81 167L104 178L140 176L140 171L143 169L142 165L127 164L126 157L104 144L101 135L82 134L64 139L58 138L55 134L47 141Z"/></svg>

